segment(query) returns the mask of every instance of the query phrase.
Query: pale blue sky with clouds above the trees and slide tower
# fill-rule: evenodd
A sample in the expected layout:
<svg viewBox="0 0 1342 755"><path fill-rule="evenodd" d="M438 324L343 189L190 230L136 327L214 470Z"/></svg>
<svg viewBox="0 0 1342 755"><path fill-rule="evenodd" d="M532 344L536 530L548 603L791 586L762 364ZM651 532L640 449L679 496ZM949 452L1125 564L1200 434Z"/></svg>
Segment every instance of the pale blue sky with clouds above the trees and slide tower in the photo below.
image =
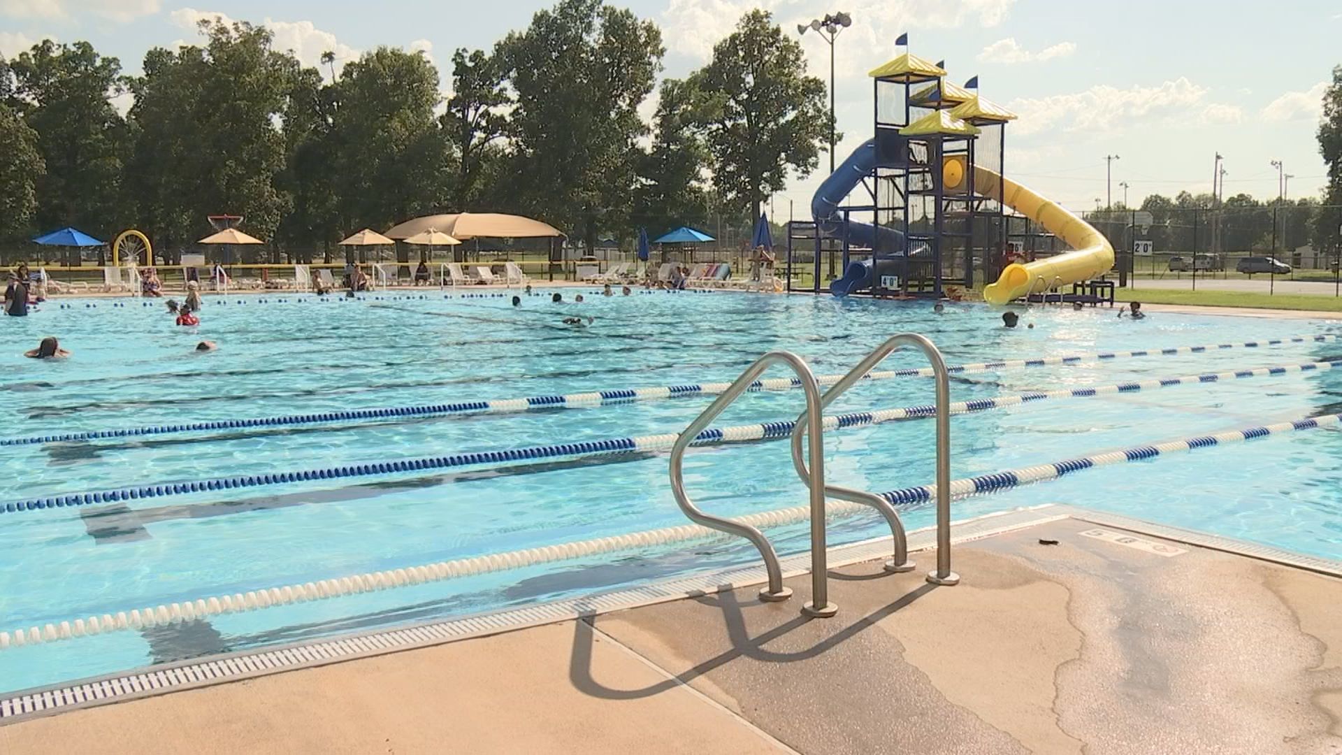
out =
<svg viewBox="0 0 1342 755"><path fill-rule="evenodd" d="M450 86L458 47L488 48L550 3L507 0L0 0L0 52L32 42L86 39L138 73L146 50L196 42L201 17L264 23L279 48L315 64L380 44L421 50ZM655 20L666 77L707 62L713 44L752 8L773 12L788 34L827 12L854 24L836 44L836 116L841 160L871 134L867 71L910 50L946 60L950 81L980 77L980 93L1020 116L1007 129L1007 173L1072 210L1092 210L1113 191L1129 204L1147 193L1210 191L1215 153L1224 156L1227 196L1276 196L1280 160L1292 197L1318 195L1325 165L1315 130L1333 66L1342 64L1342 4L1335 0L631 0L613 1ZM829 77L828 46L800 36L811 73ZM119 102L125 109L129 102ZM646 103L651 114L655 102ZM1106 183L1107 154L1111 183ZM773 197L773 218L800 219L828 173L796 177Z"/></svg>

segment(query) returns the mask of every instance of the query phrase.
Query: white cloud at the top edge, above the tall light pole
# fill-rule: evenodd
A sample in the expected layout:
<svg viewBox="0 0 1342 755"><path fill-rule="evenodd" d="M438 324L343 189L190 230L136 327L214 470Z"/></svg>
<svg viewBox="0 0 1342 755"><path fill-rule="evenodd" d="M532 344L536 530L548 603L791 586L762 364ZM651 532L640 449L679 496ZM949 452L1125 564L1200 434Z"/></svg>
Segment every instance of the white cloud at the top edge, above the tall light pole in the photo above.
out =
<svg viewBox="0 0 1342 755"><path fill-rule="evenodd" d="M1015 4L1016 0L856 0L843 8L854 17L854 26L843 34L862 36L852 43L867 46L870 62L871 50L894 54L894 40L900 32L968 24L994 27ZM713 46L731 34L741 16L753 8L772 11L788 34L794 34L798 23L833 11L817 0L671 0L662 13L663 39L672 52L706 60ZM803 40L807 36L812 35ZM917 44L917 35L913 42Z"/></svg>

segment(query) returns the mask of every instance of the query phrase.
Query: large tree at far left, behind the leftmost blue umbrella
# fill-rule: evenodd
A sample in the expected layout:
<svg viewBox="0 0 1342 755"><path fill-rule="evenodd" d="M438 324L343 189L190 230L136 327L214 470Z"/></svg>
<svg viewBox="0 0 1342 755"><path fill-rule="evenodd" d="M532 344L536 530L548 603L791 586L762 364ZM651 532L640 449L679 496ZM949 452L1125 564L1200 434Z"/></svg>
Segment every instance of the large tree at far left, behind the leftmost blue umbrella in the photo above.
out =
<svg viewBox="0 0 1342 755"><path fill-rule="evenodd" d="M87 42L44 39L11 67L13 99L47 168L36 181L38 226L115 232L127 219L121 176L129 132L110 101L121 90L121 62Z"/></svg>

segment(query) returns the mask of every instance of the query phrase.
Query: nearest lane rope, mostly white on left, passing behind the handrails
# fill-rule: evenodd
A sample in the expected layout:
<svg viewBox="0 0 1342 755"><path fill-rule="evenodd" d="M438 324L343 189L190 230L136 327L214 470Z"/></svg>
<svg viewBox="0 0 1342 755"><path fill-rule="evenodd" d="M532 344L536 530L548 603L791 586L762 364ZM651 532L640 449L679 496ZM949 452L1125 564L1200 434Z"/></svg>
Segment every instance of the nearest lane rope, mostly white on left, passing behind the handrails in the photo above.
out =
<svg viewBox="0 0 1342 755"><path fill-rule="evenodd" d="M1276 425L1266 425L1261 427L1248 427L1244 430L1228 430L1212 435L1181 438L1178 441L1168 441L1149 446L1133 446L1130 449L1091 454L1055 463L1043 463L1008 472L998 472L996 474L982 474L968 480L956 480L950 484L950 494L953 498L966 498L969 496L1000 493L1002 490L1020 488L1032 482L1057 480L1067 474L1099 466L1146 461L1181 451L1239 443L1243 441L1267 438L1270 435L1314 430L1317 427L1335 427L1339 422L1342 422L1342 414L1329 414L1323 416L1302 418L1292 422L1279 422ZM890 490L887 493L880 493L880 496L896 505L918 504L935 498L937 486L919 485L917 488ZM828 501L825 504L825 510L829 516L847 516L856 512L870 512L871 509L868 506L847 501ZM749 524L752 527L781 527L807 521L809 516L809 506L792 506L773 512L746 515L737 517L734 521ZM560 560L588 558L612 551L627 551L632 548L715 537L727 536L722 532L699 527L696 524L682 524L679 527L650 529L628 535L615 535L611 537L596 537L592 540L545 545L541 548L527 548L523 551L509 551L505 553L491 553L468 559L452 559L447 562L436 562L388 571L337 576L331 579L286 584L248 592L212 595L208 598L199 598L196 601L148 606L130 611L118 611L115 614L91 615L89 618L76 618L71 621L62 621L59 623L54 622L43 626L17 629L13 631L0 631L0 650L71 639L75 637L106 634L110 631L140 630L220 614L254 611L270 606L326 601L331 598L341 598L344 595L372 592L374 590L388 590L408 584L443 582L476 574L488 574Z"/></svg>

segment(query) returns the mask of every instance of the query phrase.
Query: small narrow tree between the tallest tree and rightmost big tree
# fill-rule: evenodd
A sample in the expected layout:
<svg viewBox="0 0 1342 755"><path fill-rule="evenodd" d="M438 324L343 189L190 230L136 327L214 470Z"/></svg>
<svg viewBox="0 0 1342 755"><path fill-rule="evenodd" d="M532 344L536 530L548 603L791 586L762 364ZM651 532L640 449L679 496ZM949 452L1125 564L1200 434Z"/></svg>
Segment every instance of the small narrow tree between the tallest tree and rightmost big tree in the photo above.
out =
<svg viewBox="0 0 1342 755"><path fill-rule="evenodd" d="M639 160L631 220L651 232L706 220L709 197L703 187L707 149L694 130L698 93L679 79L662 82L654 116L652 148Z"/></svg>

